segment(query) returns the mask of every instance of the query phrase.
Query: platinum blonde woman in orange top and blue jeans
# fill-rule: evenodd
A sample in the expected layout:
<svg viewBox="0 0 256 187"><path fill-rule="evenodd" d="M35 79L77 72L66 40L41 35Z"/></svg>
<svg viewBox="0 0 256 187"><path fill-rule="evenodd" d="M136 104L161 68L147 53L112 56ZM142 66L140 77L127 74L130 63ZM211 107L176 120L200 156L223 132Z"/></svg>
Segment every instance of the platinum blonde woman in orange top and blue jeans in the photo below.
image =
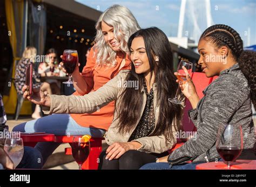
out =
<svg viewBox="0 0 256 187"><path fill-rule="evenodd" d="M77 91L73 95L83 96L96 91L120 70L131 69L127 41L139 29L137 20L124 6L113 5L103 12L96 24L96 44L90 50L86 66L82 73L79 73L77 66L72 74L73 81L77 82L74 84ZM54 114L20 124L13 131L102 137L113 120L113 113L114 102L110 102L94 113ZM42 153L45 162L59 145L39 142L36 148Z"/></svg>

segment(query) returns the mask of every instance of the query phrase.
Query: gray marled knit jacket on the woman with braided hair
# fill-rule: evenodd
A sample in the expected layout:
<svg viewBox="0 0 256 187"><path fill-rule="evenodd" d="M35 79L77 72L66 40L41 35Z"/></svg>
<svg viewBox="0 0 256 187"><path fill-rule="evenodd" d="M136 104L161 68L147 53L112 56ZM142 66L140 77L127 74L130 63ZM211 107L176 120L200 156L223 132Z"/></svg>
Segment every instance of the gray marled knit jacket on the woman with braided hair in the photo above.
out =
<svg viewBox="0 0 256 187"><path fill-rule="evenodd" d="M174 150L169 156L170 164L188 160L196 162L213 161L220 157L215 141L220 124L242 126L244 149L254 146L254 125L250 87L239 65L221 71L220 76L203 91L204 97L189 116L197 127L197 136Z"/></svg>

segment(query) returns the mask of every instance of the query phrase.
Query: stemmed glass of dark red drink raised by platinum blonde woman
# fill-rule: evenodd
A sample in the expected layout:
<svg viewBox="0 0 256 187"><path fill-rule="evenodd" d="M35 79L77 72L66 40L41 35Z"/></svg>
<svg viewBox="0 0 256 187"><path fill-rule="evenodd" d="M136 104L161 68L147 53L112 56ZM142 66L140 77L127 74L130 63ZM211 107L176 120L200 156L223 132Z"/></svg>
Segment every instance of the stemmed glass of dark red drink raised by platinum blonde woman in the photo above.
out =
<svg viewBox="0 0 256 187"><path fill-rule="evenodd" d="M63 60L64 68L66 69L66 72L69 74L69 80L66 82L63 82L63 83L64 84L76 83L71 80L71 75L72 75L73 71L76 69L76 66L78 64L77 51L73 50L73 49L64 50L62 60Z"/></svg>

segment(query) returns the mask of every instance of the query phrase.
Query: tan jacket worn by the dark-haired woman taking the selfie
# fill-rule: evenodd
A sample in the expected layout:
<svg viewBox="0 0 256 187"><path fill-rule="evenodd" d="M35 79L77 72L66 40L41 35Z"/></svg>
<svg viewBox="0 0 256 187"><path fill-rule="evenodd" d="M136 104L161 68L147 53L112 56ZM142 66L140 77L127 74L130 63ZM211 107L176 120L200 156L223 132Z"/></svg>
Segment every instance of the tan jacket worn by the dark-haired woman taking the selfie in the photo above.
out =
<svg viewBox="0 0 256 187"><path fill-rule="evenodd" d="M105 106L107 103L112 100L116 100L119 94L122 92L122 85L124 85L124 80L128 75L130 70L122 70L120 73L115 76L112 80L107 82L103 87L99 88L97 91L92 91L84 96L58 96L50 95L51 98L51 107L43 109L45 114L52 113L93 113L100 109L100 107ZM137 74L136 74L137 76ZM137 76L138 77L138 76ZM140 111L140 118L142 117L145 105L146 105L146 92L144 88L140 89L142 92L141 101L142 109ZM156 125L159 118L159 106L157 106L157 85L153 84L153 105L154 105L154 114L156 119ZM132 101L131 101L132 102ZM117 103L118 104L118 103ZM132 103L131 103L132 104ZM127 142L135 130L136 126L139 123L134 121L136 126L133 130L126 135L120 134L116 128L119 123L116 112L114 113L112 124L109 127L109 130L105 134L105 140L108 145L111 145L114 142ZM157 128L155 126L155 128ZM175 137L176 133L174 127L172 129L173 136ZM175 138L174 138L175 139ZM163 153L166 150L169 150L176 143L176 139L172 142L167 142L164 135L159 136L146 136L139 138L133 141L137 141L142 144L142 146L137 150L142 150L146 153Z"/></svg>

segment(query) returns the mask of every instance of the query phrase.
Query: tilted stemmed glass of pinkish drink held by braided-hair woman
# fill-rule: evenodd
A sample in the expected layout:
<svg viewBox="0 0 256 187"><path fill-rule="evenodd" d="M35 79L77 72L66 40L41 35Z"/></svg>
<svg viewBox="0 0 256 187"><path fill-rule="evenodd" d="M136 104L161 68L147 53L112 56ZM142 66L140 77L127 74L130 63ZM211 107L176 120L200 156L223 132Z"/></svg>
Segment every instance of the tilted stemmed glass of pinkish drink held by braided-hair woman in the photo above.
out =
<svg viewBox="0 0 256 187"><path fill-rule="evenodd" d="M185 71L183 70L182 67L185 67L188 71L189 74L191 74L192 72L192 67L193 67L193 63L192 62L188 62L188 61L185 61L185 60L181 60L178 64L178 67L177 67L177 79L179 80L179 85L178 85L178 89L176 91L176 95L174 98L169 98L169 102L171 103L174 103L174 104L181 104L182 101L178 99L178 92L179 92L179 86L180 84L182 84L184 81L186 81L186 74L185 74Z"/></svg>

